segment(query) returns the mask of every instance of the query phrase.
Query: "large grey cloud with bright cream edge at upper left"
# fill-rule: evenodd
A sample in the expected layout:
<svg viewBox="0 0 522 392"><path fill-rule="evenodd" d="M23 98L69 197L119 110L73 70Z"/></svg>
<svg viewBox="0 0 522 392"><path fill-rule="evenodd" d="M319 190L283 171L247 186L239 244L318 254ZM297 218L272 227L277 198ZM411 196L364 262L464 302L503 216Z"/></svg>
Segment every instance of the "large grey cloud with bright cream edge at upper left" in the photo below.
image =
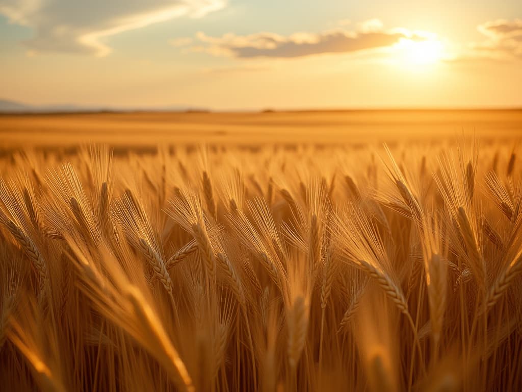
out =
<svg viewBox="0 0 522 392"><path fill-rule="evenodd" d="M109 54L106 38L173 18L202 17L225 0L0 0L0 14L34 30L37 52Z"/></svg>

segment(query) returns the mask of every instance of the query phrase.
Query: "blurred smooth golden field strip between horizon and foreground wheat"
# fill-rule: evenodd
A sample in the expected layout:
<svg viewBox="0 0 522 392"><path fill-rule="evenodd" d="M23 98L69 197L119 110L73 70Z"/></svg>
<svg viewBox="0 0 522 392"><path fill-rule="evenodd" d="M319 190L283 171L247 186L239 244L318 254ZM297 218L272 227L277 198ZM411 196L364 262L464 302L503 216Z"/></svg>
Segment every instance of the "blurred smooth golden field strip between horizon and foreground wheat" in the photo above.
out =
<svg viewBox="0 0 522 392"><path fill-rule="evenodd" d="M372 143L454 139L465 132L512 139L522 110L92 113L0 116L2 146L157 143ZM121 137L122 134L125 137Z"/></svg>

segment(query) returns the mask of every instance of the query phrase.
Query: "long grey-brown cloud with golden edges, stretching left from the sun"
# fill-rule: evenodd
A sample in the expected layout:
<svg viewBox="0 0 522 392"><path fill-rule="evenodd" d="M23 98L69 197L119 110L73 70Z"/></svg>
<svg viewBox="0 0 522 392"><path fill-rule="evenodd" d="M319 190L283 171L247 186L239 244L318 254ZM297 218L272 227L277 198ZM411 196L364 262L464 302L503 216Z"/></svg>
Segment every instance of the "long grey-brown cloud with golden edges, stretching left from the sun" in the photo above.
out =
<svg viewBox="0 0 522 392"><path fill-rule="evenodd" d="M196 51L239 58L289 58L322 53L349 53L389 47L401 39L423 39L420 35L405 29L385 31L382 22L378 19L363 22L358 31L336 29L320 33L301 32L291 36L270 32L248 36L228 33L222 37L209 37L199 32L197 38L203 45L194 47Z"/></svg>

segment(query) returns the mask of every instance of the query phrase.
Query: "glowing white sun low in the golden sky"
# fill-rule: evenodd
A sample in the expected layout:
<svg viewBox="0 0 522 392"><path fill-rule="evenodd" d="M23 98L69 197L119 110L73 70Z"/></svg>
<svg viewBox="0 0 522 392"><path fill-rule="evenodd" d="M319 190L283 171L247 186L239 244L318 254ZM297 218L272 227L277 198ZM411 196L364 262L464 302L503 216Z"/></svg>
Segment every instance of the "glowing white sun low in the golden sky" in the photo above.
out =
<svg viewBox="0 0 522 392"><path fill-rule="evenodd" d="M405 65L428 65L442 60L443 44L436 39L416 41L404 39L396 45L400 61Z"/></svg>

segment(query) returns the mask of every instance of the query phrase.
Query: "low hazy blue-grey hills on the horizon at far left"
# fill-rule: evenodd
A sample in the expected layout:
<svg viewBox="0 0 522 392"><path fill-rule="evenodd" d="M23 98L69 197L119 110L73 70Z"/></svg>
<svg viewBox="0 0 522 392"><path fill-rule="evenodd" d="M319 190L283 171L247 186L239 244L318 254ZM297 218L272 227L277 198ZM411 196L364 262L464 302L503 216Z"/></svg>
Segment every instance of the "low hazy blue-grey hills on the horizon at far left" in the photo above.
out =
<svg viewBox="0 0 522 392"><path fill-rule="evenodd" d="M27 105L26 103L0 99L0 113L81 113L81 112L136 112L136 111L159 111L159 112L208 112L209 109L192 106L164 106L164 107L87 107L76 105Z"/></svg>

